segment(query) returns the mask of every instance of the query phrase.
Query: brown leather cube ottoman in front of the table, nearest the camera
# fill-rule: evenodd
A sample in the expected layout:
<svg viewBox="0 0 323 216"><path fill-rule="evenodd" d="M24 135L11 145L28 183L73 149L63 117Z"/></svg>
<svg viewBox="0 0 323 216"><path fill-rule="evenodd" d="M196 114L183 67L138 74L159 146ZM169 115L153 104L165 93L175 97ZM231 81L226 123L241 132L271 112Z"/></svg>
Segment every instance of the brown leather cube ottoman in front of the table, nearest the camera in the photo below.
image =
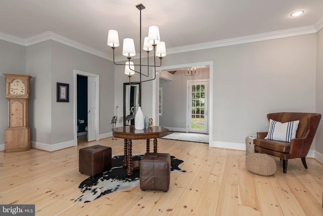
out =
<svg viewBox="0 0 323 216"><path fill-rule="evenodd" d="M171 155L145 153L140 160L140 189L167 192L171 180Z"/></svg>

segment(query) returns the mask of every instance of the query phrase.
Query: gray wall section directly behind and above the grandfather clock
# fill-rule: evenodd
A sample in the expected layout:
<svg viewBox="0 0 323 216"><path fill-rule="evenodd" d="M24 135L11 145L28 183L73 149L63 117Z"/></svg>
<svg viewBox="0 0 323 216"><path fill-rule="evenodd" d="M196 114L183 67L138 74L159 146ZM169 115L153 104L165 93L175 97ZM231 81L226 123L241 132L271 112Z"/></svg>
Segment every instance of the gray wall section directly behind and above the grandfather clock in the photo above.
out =
<svg viewBox="0 0 323 216"><path fill-rule="evenodd" d="M8 128L8 100L5 98L3 73L26 74L26 47L0 40L0 145L5 143L5 129Z"/></svg>

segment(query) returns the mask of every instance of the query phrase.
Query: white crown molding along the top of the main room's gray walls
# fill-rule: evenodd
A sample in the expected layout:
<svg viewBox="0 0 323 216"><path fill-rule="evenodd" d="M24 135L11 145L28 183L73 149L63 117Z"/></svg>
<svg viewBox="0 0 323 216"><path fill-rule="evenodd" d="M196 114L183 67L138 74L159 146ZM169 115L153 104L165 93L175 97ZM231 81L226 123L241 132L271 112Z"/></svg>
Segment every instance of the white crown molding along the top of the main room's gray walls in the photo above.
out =
<svg viewBox="0 0 323 216"><path fill-rule="evenodd" d="M317 22L315 22L314 26L305 26L305 27L300 27L300 28L292 28L292 29L281 30L281 31L273 31L273 32L267 32L267 33L262 33L262 34L254 34L254 35L243 36L243 37L217 40L217 41L189 45L189 46L183 46L183 47L169 48L169 49L167 49L167 54L184 53L184 52L190 52L190 51L197 51L197 50L205 50L205 49L226 47L226 46L239 45L239 44L246 44L249 42L257 42L257 41L298 36L298 35L304 35L304 34L312 34L312 33L318 32L322 27L323 27L323 16ZM22 38L13 36L13 35L9 35L9 34L0 32L0 39L6 40L9 42L13 42L14 44L18 44L18 45L22 45L22 46L26 46L26 47L51 39L51 40L55 40L57 42L60 42L64 45L73 47L75 49L78 49L78 50L93 54L95 56L113 61L113 57L110 55L107 55L106 53L103 53L101 51L98 51L98 50L95 50L95 49L90 48L88 46L85 46L79 42L76 42L76 41L71 40L67 37L61 36L59 34L53 33L51 31L37 34L35 36L28 37L26 39L22 39ZM141 55L145 56L146 54L142 53ZM115 58L115 61L116 62L123 61L124 58L125 58L124 56L117 56ZM134 56L133 59L139 59L139 54Z"/></svg>

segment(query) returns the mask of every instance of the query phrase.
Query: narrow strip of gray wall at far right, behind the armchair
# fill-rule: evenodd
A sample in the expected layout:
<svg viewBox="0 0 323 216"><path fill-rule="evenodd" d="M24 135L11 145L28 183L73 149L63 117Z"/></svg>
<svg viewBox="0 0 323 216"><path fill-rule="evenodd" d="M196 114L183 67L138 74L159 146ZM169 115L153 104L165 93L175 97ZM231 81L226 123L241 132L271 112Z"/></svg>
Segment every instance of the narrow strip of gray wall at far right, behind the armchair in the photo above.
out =
<svg viewBox="0 0 323 216"><path fill-rule="evenodd" d="M316 53L316 112L323 114L323 29L317 33ZM316 133L315 150L323 155L323 119Z"/></svg>

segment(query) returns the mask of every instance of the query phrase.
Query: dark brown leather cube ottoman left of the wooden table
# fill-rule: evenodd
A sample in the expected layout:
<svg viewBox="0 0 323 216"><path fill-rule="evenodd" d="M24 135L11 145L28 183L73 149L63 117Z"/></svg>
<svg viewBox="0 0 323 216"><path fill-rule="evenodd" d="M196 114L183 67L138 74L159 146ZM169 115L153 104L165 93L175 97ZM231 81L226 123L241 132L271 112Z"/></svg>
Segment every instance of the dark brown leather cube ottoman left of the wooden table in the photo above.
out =
<svg viewBox="0 0 323 216"><path fill-rule="evenodd" d="M79 151L79 171L81 174L95 176L112 167L112 149L108 146L89 146Z"/></svg>

